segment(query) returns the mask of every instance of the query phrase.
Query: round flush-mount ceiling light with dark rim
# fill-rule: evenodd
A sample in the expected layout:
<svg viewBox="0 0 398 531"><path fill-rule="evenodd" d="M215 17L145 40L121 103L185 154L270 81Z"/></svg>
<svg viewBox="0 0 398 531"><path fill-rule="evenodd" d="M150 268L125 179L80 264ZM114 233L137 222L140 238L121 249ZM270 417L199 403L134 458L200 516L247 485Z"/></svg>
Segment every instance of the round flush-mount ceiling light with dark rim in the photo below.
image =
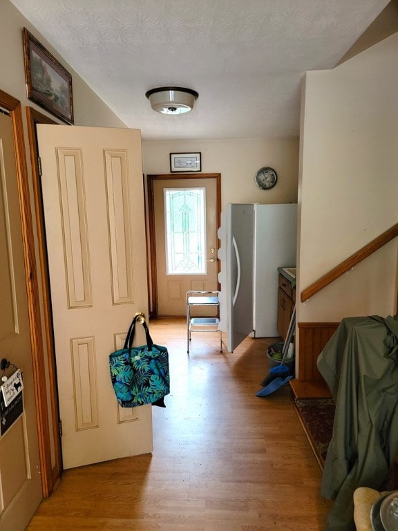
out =
<svg viewBox="0 0 398 531"><path fill-rule="evenodd" d="M145 95L151 102L153 111L162 114L182 114L192 110L199 94L191 91L191 88L161 86L151 88Z"/></svg>

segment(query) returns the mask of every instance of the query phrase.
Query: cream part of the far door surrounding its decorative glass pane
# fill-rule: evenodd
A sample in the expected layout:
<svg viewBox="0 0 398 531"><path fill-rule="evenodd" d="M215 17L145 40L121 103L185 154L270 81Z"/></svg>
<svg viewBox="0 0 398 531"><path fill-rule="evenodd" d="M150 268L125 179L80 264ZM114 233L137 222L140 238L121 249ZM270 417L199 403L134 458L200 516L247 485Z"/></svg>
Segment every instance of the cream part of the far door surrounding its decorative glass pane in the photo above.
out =
<svg viewBox="0 0 398 531"><path fill-rule="evenodd" d="M205 188L205 248L204 274L167 274L166 233L164 223L164 189ZM187 315L188 290L216 290L217 280L217 188L215 179L170 179L153 183L155 217L156 279L158 285L158 315ZM212 309L213 310L213 309ZM209 309L204 310L209 315ZM211 313L211 312L210 312ZM196 309L196 315L200 310Z"/></svg>

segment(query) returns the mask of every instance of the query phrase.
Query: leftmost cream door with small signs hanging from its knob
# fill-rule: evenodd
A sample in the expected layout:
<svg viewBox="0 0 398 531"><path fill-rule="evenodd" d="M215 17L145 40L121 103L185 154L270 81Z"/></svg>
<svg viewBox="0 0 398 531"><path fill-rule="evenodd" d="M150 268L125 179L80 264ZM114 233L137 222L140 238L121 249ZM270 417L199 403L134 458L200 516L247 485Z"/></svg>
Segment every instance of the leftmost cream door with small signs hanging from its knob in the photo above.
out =
<svg viewBox="0 0 398 531"><path fill-rule="evenodd" d="M0 275L0 359L6 358L23 371L23 413L14 424L7 422L10 413L1 402L0 529L22 531L42 496L15 151L11 118L3 114L0 114ZM12 372L10 366L6 375ZM16 402L16 399L11 402L10 411ZM7 425L10 427L5 429Z"/></svg>

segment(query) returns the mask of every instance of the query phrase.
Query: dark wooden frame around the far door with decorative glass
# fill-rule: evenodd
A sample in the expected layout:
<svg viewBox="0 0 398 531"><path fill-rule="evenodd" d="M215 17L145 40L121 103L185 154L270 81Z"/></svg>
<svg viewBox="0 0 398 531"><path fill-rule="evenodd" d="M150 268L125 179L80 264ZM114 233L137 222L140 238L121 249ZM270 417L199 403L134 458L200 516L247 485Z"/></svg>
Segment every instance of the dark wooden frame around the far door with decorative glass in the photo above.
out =
<svg viewBox="0 0 398 531"><path fill-rule="evenodd" d="M221 174L156 174L147 175L148 186L148 225L149 225L149 260L151 264L151 298L150 317L158 317L158 279L156 274L156 249L155 249L155 206L153 187L155 180L187 180L187 179L216 179L216 208L217 227L221 221ZM217 259L217 272L220 270L220 261Z"/></svg>

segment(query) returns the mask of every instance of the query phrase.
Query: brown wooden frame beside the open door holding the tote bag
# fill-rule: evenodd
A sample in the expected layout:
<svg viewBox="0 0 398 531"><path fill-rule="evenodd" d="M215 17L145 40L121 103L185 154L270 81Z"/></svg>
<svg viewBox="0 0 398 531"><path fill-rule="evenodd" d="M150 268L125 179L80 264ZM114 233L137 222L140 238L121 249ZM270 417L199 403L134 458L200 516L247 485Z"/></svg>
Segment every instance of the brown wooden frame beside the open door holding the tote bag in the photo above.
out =
<svg viewBox="0 0 398 531"><path fill-rule="evenodd" d="M32 166L32 187L35 200L35 214L37 225L37 240L39 249L39 265L41 272L41 295L43 300L44 327L46 330L46 353L48 364L48 393L51 404L51 418L53 421L52 438L54 441L54 465L51 465L51 448L50 439L46 440L44 448L45 463L41 463L42 481L46 483L43 489L43 496L47 498L53 492L55 485L61 476L62 457L61 457L61 438L59 435L59 414L58 414L58 395L57 395L57 375L55 365L55 347L53 333L53 315L50 303L50 280L48 278L48 261L46 252L46 236L44 229L44 210L43 199L41 196L41 183L39 175L39 152L37 149L36 124L57 124L48 116L39 113L32 107L26 107L28 118L28 138L30 146L30 163ZM49 427L48 427L49 431Z"/></svg>

